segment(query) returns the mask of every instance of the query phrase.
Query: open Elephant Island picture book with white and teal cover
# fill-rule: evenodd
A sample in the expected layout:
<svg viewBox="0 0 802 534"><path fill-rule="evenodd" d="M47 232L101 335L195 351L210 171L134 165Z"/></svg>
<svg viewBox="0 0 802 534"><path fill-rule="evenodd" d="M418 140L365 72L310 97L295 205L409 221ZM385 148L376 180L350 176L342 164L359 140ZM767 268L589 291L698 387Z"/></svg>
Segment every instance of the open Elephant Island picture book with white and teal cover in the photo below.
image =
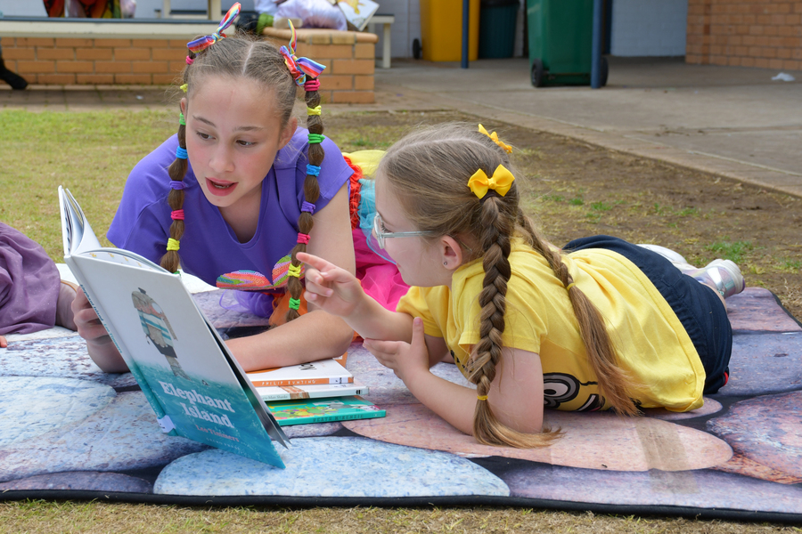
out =
<svg viewBox="0 0 802 534"><path fill-rule="evenodd" d="M101 247L69 190L59 187L64 262L161 425L283 467L290 441L177 274L140 255Z"/></svg>

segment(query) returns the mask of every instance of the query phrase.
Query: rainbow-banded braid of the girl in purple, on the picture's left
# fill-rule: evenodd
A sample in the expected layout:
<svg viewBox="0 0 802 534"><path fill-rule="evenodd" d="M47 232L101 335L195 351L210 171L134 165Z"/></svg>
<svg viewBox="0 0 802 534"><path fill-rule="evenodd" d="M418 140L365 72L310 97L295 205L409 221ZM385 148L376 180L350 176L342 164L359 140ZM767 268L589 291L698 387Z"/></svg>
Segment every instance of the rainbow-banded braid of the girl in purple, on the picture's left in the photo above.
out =
<svg viewBox="0 0 802 534"><path fill-rule="evenodd" d="M186 88L189 67L195 59L195 53L189 52L186 56L186 69L184 69L184 77L182 88ZM161 266L170 272L178 271L181 265L181 259L178 255L179 241L184 237L184 176L186 175L187 167L187 154L186 154L186 120L184 113L181 113L178 118L178 150L176 150L176 159L170 164L168 168L168 175L170 177L170 191L168 193L168 205L172 210L170 214L173 222L170 223L170 238L168 239L167 252L161 256Z"/></svg>

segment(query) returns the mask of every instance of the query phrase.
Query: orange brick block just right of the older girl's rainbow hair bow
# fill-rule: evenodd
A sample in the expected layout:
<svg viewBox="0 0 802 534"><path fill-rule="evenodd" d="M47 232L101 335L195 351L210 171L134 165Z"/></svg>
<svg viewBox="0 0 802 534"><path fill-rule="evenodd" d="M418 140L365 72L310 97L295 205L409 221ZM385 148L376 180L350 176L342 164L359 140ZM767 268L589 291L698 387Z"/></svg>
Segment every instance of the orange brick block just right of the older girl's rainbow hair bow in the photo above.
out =
<svg viewBox="0 0 802 534"><path fill-rule="evenodd" d="M290 40L290 30L265 28L264 36L280 46ZM324 102L366 104L373 102L377 40L369 33L301 28L296 53L326 66L320 77Z"/></svg>

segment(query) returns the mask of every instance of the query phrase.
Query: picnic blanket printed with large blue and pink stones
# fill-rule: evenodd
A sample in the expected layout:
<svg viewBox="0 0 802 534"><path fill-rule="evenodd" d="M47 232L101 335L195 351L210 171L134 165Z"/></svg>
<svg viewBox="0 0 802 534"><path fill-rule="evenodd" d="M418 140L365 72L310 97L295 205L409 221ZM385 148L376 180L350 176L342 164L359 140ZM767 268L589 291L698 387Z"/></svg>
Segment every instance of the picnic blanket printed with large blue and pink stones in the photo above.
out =
<svg viewBox="0 0 802 534"><path fill-rule="evenodd" d="M258 318L195 295L217 328ZM730 382L690 413L546 410L545 449L479 445L353 344L348 368L387 417L287 427L274 468L161 432L130 374L104 374L75 333L0 349L0 495L203 505L499 505L802 521L802 328L772 293L727 301ZM434 372L467 384L454 365Z"/></svg>

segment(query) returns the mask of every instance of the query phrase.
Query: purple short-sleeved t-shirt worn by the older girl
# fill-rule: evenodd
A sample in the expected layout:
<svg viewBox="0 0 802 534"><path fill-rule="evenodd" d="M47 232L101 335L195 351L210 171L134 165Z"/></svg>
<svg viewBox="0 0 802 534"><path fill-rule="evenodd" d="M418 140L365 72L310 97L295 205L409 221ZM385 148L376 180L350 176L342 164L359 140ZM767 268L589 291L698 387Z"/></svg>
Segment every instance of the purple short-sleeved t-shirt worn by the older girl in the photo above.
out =
<svg viewBox="0 0 802 534"><path fill-rule="evenodd" d="M257 231L247 243L240 243L217 206L209 203L192 173L192 166L189 167L184 177L186 231L178 251L184 271L213 286L217 285L218 277L231 280L227 275L237 271L254 271L263 275L267 283L274 281L274 267L282 263L282 258L290 254L298 240L298 217L305 199L307 134L307 130L299 128L276 155L274 165L262 182ZM176 159L177 146L174 135L136 164L106 234L116 247L131 250L155 263L159 263L167 251L172 223L167 202L168 166ZM315 211L323 209L353 174L334 142L323 140L323 150L325 158L318 177L320 198L315 203Z"/></svg>

